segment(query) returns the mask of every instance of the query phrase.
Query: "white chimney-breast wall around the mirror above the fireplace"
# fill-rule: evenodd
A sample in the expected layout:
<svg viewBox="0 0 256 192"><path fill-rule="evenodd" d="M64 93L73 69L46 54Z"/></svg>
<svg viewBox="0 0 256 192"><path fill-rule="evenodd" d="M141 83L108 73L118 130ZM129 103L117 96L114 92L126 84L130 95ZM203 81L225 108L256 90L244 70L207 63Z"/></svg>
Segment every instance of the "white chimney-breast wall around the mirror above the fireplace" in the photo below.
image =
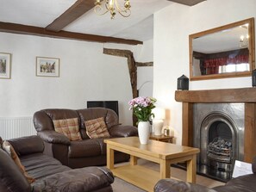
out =
<svg viewBox="0 0 256 192"><path fill-rule="evenodd" d="M256 17L255 0L207 0L188 7L172 3L154 15L153 96L169 113L165 124L182 136L181 103L174 99L177 78L189 77L189 34ZM190 82L190 90L251 87L251 77Z"/></svg>

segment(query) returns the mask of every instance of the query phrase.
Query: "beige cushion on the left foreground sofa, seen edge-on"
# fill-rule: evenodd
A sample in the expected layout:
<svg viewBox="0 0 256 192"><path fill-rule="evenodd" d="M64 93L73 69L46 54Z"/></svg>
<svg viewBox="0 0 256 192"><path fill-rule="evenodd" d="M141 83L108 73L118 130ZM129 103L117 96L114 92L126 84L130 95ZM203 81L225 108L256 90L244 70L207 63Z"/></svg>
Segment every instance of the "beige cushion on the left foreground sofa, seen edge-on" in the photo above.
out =
<svg viewBox="0 0 256 192"><path fill-rule="evenodd" d="M24 175L24 177L27 178L28 183L34 183L35 179L28 175L27 171L25 170L24 166L21 163L20 158L17 156L17 153L14 150L13 146L11 146L8 141L4 140L2 147L3 147L3 150L9 154L9 156L14 160L16 165L22 171L22 174Z"/></svg>

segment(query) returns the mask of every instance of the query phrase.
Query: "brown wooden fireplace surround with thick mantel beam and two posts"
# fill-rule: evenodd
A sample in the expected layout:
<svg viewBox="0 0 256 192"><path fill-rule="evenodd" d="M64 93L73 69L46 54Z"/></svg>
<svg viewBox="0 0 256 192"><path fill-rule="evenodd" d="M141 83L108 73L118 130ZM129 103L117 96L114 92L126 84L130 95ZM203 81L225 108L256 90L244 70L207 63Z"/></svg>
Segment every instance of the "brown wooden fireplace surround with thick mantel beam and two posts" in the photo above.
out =
<svg viewBox="0 0 256 192"><path fill-rule="evenodd" d="M256 156L256 88L227 90L177 90L175 100L182 102L182 145L193 146L193 103L245 103L244 161Z"/></svg>

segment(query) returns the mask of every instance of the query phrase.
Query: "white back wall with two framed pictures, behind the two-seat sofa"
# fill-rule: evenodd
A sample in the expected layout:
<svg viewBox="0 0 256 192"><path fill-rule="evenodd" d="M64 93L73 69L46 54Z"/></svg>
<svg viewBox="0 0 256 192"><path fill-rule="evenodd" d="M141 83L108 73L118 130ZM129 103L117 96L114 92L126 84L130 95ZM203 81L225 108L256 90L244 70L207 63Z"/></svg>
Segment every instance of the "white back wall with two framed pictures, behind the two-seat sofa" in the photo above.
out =
<svg viewBox="0 0 256 192"><path fill-rule="evenodd" d="M103 54L102 43L7 33L0 33L0 42L0 53L12 54L11 79L0 79L0 117L32 116L42 108L86 108L87 100L118 100L120 121L132 123L127 60ZM152 47L134 50L142 60L148 57L144 49L152 53ZM59 58L59 77L36 77L36 56Z"/></svg>

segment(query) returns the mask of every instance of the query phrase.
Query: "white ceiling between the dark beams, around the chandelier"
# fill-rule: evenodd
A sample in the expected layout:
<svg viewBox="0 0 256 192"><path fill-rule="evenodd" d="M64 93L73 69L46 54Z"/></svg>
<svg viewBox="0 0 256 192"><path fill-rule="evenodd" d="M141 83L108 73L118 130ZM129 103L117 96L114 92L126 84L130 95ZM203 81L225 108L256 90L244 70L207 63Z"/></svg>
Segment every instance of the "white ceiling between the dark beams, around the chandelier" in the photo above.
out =
<svg viewBox="0 0 256 192"><path fill-rule="evenodd" d="M77 0L0 0L0 22L46 28ZM123 0L118 0L122 3ZM153 39L153 13L172 4L167 0L130 0L132 14L128 17L109 13L96 15L91 9L63 30L97 34L129 40Z"/></svg>

